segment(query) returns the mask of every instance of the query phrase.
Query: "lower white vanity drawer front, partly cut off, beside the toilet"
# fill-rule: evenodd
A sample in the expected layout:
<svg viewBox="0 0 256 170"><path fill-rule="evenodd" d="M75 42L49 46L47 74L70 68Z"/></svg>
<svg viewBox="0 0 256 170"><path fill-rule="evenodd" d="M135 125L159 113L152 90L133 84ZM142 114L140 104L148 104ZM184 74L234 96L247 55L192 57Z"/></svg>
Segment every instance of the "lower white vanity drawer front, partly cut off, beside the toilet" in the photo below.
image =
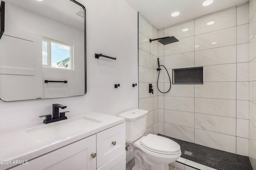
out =
<svg viewBox="0 0 256 170"><path fill-rule="evenodd" d="M106 164L98 168L97 170L125 170L126 169L126 151L114 157L112 160L108 161Z"/></svg>

